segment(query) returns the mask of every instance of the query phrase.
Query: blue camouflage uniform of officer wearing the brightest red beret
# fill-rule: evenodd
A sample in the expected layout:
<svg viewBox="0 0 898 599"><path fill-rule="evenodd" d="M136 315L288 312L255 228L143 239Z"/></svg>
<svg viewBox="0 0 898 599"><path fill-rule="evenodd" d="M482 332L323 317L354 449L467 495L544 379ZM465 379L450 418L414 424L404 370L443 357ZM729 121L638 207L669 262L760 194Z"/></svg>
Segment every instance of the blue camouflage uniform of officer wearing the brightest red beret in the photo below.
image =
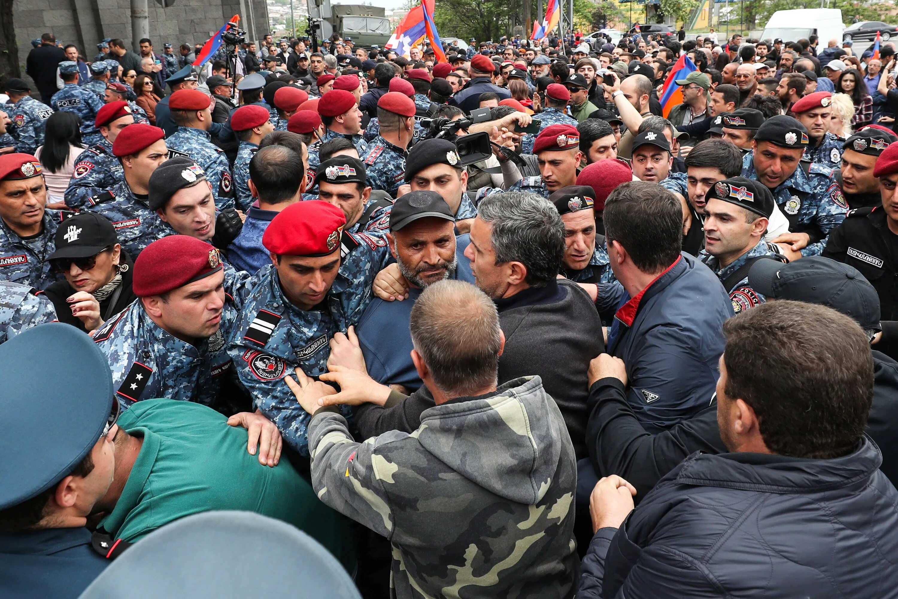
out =
<svg viewBox="0 0 898 599"><path fill-rule="evenodd" d="M321 310L304 311L284 296L274 265L260 269L243 306L240 322L228 339L228 351L253 406L277 424L284 441L308 455L306 426L311 418L281 380L300 368L309 376L328 371L329 340L356 325L371 300L374 276L390 260L386 240L345 233L344 248L357 244L340 264L339 274ZM344 415L351 412L342 407Z"/></svg>

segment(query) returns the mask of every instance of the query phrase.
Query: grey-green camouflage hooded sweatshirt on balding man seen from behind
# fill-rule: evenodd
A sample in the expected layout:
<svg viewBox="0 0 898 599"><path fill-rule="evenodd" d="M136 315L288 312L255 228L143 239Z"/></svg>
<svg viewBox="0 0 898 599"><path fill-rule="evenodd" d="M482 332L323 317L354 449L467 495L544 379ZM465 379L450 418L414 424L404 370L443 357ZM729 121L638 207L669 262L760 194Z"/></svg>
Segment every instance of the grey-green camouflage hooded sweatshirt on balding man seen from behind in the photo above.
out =
<svg viewBox="0 0 898 599"><path fill-rule="evenodd" d="M577 463L539 376L447 401L413 433L362 444L321 410L309 447L321 501L392 543L392 597L573 595Z"/></svg>

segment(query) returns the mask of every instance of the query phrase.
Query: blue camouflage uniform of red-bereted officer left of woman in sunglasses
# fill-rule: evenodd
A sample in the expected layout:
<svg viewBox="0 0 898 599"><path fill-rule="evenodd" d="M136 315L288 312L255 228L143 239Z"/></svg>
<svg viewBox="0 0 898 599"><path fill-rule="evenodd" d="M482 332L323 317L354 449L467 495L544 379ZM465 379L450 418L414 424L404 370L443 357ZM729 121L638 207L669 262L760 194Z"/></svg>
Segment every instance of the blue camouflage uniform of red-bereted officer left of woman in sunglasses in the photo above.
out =
<svg viewBox="0 0 898 599"><path fill-rule="evenodd" d="M22 239L0 219L0 279L41 290L61 279L47 261L56 251L59 220L57 210L45 210L40 235Z"/></svg>

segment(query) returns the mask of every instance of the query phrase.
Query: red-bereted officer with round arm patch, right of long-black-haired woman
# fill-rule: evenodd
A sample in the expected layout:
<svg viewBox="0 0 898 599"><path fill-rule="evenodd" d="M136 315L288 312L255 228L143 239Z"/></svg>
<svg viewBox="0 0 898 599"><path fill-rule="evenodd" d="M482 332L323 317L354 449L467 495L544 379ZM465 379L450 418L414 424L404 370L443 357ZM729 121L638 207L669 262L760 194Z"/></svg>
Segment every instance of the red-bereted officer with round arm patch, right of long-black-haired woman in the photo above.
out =
<svg viewBox="0 0 898 599"><path fill-rule="evenodd" d="M95 123L102 139L75 158L75 171L65 195L66 206L70 208L83 208L92 196L124 179L121 163L112 154L112 144L122 129L134 124L131 107L126 101L110 102L97 112Z"/></svg>

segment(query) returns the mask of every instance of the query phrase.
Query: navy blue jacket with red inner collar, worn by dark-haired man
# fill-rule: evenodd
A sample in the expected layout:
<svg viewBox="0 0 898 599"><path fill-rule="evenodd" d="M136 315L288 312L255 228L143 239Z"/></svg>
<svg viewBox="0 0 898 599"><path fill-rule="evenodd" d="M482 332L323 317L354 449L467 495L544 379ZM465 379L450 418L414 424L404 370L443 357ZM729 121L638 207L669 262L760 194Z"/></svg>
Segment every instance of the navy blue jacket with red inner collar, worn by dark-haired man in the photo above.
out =
<svg viewBox="0 0 898 599"><path fill-rule="evenodd" d="M608 353L627 365L627 401L656 434L709 406L733 304L717 275L687 253L636 297L617 289Z"/></svg>

